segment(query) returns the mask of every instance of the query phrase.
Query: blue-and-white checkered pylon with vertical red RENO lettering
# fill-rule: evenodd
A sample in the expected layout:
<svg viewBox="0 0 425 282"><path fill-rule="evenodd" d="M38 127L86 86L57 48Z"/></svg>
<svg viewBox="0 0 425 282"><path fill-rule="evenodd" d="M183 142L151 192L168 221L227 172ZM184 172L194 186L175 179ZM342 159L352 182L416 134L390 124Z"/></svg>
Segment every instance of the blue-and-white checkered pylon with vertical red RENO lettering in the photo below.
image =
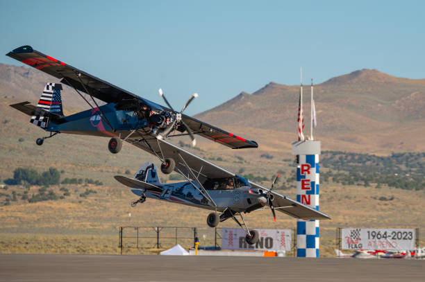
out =
<svg viewBox="0 0 425 282"><path fill-rule="evenodd" d="M297 156L297 201L319 211L320 141L292 143ZM319 220L297 220L297 256L319 257Z"/></svg>

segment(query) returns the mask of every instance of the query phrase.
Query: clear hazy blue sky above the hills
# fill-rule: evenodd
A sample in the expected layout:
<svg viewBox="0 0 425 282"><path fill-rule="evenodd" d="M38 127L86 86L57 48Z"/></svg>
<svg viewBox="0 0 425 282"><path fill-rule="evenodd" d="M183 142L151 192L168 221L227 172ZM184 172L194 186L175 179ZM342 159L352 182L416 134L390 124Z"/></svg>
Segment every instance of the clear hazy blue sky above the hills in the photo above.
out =
<svg viewBox="0 0 425 282"><path fill-rule="evenodd" d="M0 53L53 58L195 114L270 81L425 78L425 1L5 1ZM0 62L21 65L5 55ZM317 99L319 99L317 97Z"/></svg>

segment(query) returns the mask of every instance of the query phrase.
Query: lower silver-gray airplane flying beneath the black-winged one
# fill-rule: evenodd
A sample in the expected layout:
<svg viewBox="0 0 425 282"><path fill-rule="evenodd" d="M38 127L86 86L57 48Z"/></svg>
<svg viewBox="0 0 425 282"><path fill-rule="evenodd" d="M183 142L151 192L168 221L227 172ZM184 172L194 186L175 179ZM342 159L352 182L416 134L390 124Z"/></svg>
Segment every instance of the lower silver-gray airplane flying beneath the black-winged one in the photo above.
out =
<svg viewBox="0 0 425 282"><path fill-rule="evenodd" d="M141 144L139 143L139 146ZM258 231L247 227L242 213L270 209L275 221L275 210L305 220L330 219L326 213L274 192L278 175L272 187L265 188L165 140L152 141L149 146L140 147L147 152L158 152L156 155L162 164L169 164L161 166L163 173L171 173L174 170L187 181L160 184L158 168L151 162L144 164L134 178L116 175L118 182L130 187L131 191L140 197L131 203L132 206L150 197L209 209L213 212L208 215L208 226L217 227L219 222L232 218L246 231L246 240L250 245L257 243L259 234Z"/></svg>

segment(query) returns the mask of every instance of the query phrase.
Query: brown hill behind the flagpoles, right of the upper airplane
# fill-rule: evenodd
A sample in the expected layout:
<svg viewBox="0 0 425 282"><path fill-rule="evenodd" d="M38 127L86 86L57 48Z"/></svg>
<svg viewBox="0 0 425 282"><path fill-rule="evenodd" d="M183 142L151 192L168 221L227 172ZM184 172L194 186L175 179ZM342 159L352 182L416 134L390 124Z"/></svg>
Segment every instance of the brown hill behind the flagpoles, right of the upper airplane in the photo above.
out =
<svg viewBox="0 0 425 282"><path fill-rule="evenodd" d="M329 141L325 148L332 144L338 150L425 150L425 80L363 69L315 85L314 93L315 137ZM290 134L288 141L293 141L298 99L299 85L269 82L253 94L242 92L195 117L217 126L244 128L251 139L259 139L249 130L253 127L273 130L272 136L285 132L281 138ZM303 110L305 134L310 134L310 85L303 86Z"/></svg>

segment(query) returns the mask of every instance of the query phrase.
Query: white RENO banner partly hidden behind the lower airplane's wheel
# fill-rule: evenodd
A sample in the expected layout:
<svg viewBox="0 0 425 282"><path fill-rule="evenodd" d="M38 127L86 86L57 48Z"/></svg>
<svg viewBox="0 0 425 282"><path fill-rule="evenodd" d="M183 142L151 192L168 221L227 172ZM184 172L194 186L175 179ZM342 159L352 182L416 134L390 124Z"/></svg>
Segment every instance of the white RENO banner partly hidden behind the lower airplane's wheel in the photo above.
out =
<svg viewBox="0 0 425 282"><path fill-rule="evenodd" d="M260 239L248 245L243 229L222 228L222 249L251 249L258 251L290 251L291 229L256 229Z"/></svg>

